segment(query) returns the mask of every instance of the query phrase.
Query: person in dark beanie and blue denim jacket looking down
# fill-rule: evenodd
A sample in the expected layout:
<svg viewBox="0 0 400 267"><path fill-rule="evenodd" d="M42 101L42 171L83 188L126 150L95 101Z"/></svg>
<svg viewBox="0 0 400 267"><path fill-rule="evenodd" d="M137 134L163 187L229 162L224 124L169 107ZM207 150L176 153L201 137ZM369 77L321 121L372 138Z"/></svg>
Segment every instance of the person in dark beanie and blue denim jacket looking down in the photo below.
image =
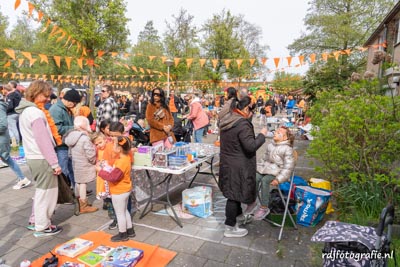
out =
<svg viewBox="0 0 400 267"><path fill-rule="evenodd" d="M62 99L50 107L50 115L61 137L64 137L68 131L74 129L74 109L79 102L81 102L79 92L75 89L71 89L64 94ZM56 153L62 172L69 178L71 186L74 188L75 179L72 169L72 160L68 156L68 146L64 143L58 145L56 147Z"/></svg>

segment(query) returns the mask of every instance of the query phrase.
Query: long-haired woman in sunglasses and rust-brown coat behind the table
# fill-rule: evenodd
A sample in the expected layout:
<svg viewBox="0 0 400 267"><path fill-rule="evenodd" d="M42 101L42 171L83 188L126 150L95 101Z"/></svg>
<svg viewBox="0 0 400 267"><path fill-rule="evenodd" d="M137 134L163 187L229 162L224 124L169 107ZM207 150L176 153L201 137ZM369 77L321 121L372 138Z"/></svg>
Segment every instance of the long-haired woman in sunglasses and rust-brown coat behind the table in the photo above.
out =
<svg viewBox="0 0 400 267"><path fill-rule="evenodd" d="M165 102L164 91L159 87L154 88L151 93L150 103L146 108L146 119L150 126L150 143L153 146L163 143L167 148L172 147L172 143L175 142L172 132L174 119ZM169 136L172 140L169 140Z"/></svg>

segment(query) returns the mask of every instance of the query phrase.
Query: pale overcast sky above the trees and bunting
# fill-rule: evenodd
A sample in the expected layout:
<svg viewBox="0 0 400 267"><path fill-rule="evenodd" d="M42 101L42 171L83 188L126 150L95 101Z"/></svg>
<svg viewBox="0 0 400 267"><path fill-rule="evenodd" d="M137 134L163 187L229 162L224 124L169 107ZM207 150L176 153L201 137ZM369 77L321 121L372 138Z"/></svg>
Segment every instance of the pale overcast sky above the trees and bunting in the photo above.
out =
<svg viewBox="0 0 400 267"><path fill-rule="evenodd" d="M136 42L140 31L146 22L152 20L154 27L161 35L165 29L165 21L172 22L173 15L178 15L180 9L185 9L194 16L194 24L200 27L213 14L219 14L223 9L230 10L233 15L243 15L244 19L262 29L261 43L269 46L266 51L267 66L275 69L272 58L289 56L286 47L305 31L304 18L309 0L127 0L127 14L131 19L128 24L130 40ZM15 24L16 16L28 10L28 2L21 0L21 5L14 10L15 0L0 0L0 11L6 15L11 24ZM35 23L35 22L33 22ZM283 63L282 63L283 64ZM293 64L297 64L293 60ZM284 65L284 64L283 64ZM282 66L283 66L282 65ZM281 66L280 66L281 67ZM288 68L285 71L303 74L307 67ZM271 74L272 75L272 74ZM272 77L269 77L269 79Z"/></svg>

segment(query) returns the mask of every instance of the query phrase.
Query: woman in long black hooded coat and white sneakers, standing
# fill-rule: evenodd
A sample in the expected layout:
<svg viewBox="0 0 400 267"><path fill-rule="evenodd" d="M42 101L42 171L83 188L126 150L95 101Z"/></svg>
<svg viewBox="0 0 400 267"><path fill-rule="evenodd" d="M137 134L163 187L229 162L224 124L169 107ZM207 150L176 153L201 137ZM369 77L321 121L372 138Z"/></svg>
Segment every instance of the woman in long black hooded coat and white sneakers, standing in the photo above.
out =
<svg viewBox="0 0 400 267"><path fill-rule="evenodd" d="M225 208L226 237L243 237L248 231L239 228L237 217L243 216L241 203L248 209L254 209L256 200L256 151L265 142L267 129L261 129L255 137L252 115L252 103L248 96L237 102L230 116L220 121L221 154L219 187L228 199ZM246 213L245 211L245 213Z"/></svg>

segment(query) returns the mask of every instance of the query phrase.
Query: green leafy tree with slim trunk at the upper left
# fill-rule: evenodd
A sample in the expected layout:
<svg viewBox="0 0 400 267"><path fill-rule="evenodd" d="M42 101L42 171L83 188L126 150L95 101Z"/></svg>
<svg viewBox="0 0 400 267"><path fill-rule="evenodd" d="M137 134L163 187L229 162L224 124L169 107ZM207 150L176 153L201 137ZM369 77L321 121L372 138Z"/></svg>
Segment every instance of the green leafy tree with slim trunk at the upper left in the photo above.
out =
<svg viewBox="0 0 400 267"><path fill-rule="evenodd" d="M98 58L98 52L122 52L128 47L126 3L123 0L34 2L45 10L53 22L86 48L90 68L90 107L93 108L94 63L100 65L104 62Z"/></svg>

